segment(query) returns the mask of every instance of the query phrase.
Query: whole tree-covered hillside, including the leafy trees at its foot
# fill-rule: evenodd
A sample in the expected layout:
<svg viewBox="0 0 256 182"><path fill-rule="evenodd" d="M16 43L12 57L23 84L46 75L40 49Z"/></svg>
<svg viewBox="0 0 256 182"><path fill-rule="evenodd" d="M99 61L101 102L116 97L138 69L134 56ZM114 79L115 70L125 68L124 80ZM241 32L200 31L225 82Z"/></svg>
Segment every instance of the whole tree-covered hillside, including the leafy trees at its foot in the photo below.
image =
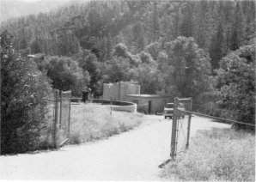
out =
<svg viewBox="0 0 256 182"><path fill-rule="evenodd" d="M75 96L91 88L98 97L104 82L132 80L142 94L193 97L212 115L255 116L253 104L237 112L237 103L255 100L253 0L89 1L12 19L4 29L21 55L37 54L53 88ZM247 71L248 84L237 84L231 70Z"/></svg>

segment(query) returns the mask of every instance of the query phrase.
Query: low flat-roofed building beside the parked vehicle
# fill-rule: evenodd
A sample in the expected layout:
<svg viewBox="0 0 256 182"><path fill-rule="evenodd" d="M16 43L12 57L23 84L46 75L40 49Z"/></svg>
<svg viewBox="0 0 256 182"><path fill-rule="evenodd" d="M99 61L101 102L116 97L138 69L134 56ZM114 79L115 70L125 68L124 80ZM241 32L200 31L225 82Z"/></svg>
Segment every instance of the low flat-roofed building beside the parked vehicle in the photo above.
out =
<svg viewBox="0 0 256 182"><path fill-rule="evenodd" d="M138 112L146 113L163 112L164 106L174 101L172 97L157 94L127 94L126 100L136 103Z"/></svg>

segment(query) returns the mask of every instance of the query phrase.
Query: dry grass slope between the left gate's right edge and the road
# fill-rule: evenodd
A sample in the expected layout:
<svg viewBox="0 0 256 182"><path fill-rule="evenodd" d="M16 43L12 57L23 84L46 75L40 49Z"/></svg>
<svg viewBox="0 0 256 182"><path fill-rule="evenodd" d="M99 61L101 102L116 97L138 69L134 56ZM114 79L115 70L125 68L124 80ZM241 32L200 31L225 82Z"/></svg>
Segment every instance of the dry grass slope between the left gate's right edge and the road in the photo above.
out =
<svg viewBox="0 0 256 182"><path fill-rule="evenodd" d="M131 130L143 122L143 114L114 112L99 104L71 107L70 143L84 143Z"/></svg>

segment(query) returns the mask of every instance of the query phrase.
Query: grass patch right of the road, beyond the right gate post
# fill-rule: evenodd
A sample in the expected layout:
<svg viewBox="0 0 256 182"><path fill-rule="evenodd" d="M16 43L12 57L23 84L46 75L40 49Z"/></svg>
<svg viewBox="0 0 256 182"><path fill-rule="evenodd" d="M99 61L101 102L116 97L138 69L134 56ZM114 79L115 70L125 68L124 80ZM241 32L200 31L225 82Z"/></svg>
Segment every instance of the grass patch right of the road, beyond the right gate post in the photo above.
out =
<svg viewBox="0 0 256 182"><path fill-rule="evenodd" d="M244 131L199 131L190 149L169 163L162 177L174 180L255 180L255 135Z"/></svg>

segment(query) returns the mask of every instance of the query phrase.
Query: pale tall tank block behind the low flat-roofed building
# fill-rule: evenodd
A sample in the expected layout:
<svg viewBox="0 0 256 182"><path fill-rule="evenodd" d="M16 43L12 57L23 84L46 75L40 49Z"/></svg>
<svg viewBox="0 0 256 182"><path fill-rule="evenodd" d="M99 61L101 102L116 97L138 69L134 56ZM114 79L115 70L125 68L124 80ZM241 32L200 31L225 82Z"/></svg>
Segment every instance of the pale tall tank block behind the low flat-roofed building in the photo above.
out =
<svg viewBox="0 0 256 182"><path fill-rule="evenodd" d="M126 100L126 94L140 94L140 86L131 82L103 84L103 100Z"/></svg>

